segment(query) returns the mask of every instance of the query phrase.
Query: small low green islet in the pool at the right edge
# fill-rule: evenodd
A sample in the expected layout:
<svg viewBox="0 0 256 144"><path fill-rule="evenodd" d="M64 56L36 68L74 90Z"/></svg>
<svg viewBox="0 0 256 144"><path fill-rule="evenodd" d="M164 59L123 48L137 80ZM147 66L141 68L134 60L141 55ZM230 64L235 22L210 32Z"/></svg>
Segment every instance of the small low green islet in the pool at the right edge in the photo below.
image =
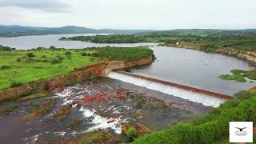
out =
<svg viewBox="0 0 256 144"><path fill-rule="evenodd" d="M222 74L218 78L223 80L234 80L236 82L246 82L246 78L251 80L256 80L256 71L255 70L231 70L232 75Z"/></svg>

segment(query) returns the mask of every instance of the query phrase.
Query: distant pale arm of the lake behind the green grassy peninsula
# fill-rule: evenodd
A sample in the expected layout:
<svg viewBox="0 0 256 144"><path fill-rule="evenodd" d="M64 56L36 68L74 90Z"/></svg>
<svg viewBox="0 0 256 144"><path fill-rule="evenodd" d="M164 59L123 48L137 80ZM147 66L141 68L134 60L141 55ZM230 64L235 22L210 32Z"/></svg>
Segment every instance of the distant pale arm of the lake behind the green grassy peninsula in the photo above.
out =
<svg viewBox="0 0 256 144"><path fill-rule="evenodd" d="M79 49L93 46L119 46L119 47L133 47L152 45L152 43L129 43L129 44L96 44L92 42L79 41L59 41L62 37L74 37L79 35L96 35L96 34L51 34L51 35L37 35L37 36L22 36L14 38L0 38L0 45L14 47L18 50L26 50L41 47L64 47Z"/></svg>

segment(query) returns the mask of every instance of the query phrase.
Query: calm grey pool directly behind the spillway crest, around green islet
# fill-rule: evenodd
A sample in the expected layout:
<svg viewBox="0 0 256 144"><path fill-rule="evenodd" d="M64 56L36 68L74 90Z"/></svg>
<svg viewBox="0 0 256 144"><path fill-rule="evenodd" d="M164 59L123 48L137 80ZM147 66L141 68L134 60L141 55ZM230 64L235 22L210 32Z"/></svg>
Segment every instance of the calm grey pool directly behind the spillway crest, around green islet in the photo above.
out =
<svg viewBox="0 0 256 144"><path fill-rule="evenodd" d="M219 74L230 74L233 69L254 70L253 66L238 58L164 46L153 46L151 49L157 57L156 62L132 72L222 94L234 94L255 86L255 82L232 82L218 78Z"/></svg>

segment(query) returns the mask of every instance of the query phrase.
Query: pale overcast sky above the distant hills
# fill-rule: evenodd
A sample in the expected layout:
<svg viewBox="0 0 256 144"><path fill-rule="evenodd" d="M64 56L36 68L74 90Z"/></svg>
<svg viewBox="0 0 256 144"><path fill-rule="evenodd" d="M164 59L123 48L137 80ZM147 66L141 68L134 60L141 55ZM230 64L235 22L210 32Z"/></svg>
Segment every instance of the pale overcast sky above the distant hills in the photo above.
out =
<svg viewBox="0 0 256 144"><path fill-rule="evenodd" d="M256 28L255 0L0 0L0 25L95 29Z"/></svg>

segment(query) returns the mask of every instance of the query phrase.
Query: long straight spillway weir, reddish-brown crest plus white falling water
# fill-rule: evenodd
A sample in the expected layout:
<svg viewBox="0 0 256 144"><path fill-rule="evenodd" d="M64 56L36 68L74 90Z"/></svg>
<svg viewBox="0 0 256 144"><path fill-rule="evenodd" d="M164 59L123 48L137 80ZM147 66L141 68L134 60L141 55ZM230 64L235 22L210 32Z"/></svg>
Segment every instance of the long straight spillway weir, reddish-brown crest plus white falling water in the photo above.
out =
<svg viewBox="0 0 256 144"><path fill-rule="evenodd" d="M206 106L218 107L226 100L232 98L229 95L218 94L207 90L200 90L190 86L183 86L172 82L165 82L155 78L148 78L138 74L124 71L111 71L109 78L118 79L122 82L132 83L137 86L146 87L150 90L160 91L165 94L174 95L192 102L202 103Z"/></svg>

